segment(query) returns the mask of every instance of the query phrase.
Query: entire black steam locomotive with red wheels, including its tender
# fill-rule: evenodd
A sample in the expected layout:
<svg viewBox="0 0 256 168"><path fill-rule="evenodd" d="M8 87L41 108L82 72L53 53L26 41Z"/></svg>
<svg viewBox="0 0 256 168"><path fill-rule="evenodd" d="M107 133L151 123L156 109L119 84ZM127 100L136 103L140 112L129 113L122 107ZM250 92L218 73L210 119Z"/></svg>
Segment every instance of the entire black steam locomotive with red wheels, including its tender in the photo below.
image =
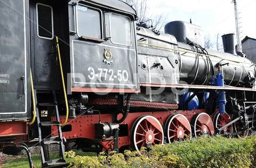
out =
<svg viewBox="0 0 256 168"><path fill-rule="evenodd" d="M225 53L205 49L200 27L139 27L117 0L3 0L0 9L3 153L39 145L43 167L64 167L65 148L139 150L254 131L256 69L233 34L222 37Z"/></svg>

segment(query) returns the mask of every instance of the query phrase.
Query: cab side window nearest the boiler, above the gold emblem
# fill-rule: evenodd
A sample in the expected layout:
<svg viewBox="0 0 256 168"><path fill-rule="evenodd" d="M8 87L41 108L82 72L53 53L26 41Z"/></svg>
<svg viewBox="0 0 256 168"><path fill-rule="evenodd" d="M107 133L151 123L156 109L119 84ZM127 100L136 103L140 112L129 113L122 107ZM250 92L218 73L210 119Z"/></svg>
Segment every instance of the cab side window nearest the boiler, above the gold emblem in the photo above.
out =
<svg viewBox="0 0 256 168"><path fill-rule="evenodd" d="M131 46L131 19L127 16L110 14L110 40L114 44Z"/></svg>

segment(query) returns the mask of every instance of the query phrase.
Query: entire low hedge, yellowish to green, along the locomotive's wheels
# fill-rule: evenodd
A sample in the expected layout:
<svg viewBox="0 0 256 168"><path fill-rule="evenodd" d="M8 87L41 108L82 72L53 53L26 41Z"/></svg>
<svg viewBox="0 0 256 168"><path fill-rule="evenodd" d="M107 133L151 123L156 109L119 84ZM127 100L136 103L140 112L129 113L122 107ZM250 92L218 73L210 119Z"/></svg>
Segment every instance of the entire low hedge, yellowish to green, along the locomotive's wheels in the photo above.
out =
<svg viewBox="0 0 256 168"><path fill-rule="evenodd" d="M256 165L256 137L227 139L200 137L172 144L156 145L150 152L125 150L96 156L67 152L74 167L250 167ZM255 158L255 159L254 159Z"/></svg>

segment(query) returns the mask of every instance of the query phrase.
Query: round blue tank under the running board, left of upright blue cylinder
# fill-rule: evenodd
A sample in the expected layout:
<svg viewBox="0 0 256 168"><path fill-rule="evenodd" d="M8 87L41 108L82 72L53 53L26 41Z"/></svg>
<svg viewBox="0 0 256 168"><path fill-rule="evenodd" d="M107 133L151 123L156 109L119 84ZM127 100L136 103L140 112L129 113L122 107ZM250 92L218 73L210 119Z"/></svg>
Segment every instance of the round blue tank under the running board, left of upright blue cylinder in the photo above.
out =
<svg viewBox="0 0 256 168"><path fill-rule="evenodd" d="M197 110L198 109L199 100L198 100L197 96L195 96L193 99L190 100L190 102L188 103L188 108L185 109L186 101L193 94L194 94L193 92L188 92L185 95L180 96L180 106L182 107L183 110Z"/></svg>

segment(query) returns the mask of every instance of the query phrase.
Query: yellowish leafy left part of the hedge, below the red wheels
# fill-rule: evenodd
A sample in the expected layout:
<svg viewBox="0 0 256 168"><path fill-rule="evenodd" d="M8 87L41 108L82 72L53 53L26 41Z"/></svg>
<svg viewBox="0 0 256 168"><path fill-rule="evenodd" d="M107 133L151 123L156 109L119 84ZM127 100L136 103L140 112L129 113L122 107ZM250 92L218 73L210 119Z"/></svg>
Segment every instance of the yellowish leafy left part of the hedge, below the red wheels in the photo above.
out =
<svg viewBox="0 0 256 168"><path fill-rule="evenodd" d="M73 151L66 152L66 157L69 157L74 162L73 167L174 167L177 166L179 157L174 154L167 154L162 157L161 155L150 155L146 148L142 148L140 153L137 151L131 152L130 150L125 150L124 154L110 152L108 155L106 153L100 153L98 157L90 156L76 156ZM160 157L161 156L161 157Z"/></svg>

